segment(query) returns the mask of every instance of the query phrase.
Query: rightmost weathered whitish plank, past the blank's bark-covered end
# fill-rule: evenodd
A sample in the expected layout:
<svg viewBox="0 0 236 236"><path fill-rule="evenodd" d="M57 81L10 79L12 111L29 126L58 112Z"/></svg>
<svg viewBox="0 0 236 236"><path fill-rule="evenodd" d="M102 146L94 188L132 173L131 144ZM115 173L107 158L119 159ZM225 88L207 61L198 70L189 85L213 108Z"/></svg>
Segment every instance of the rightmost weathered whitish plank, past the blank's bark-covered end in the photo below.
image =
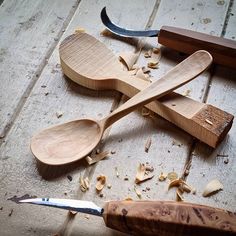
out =
<svg viewBox="0 0 236 236"><path fill-rule="evenodd" d="M236 4L229 11L225 37L235 39ZM236 73L235 70L217 67L212 77L207 102L236 115ZM187 195L188 201L221 207L236 211L236 126L233 124L227 138L215 150L199 144L192 156L192 166L188 182L197 189L196 196ZM224 189L219 193L204 198L203 188L212 179L222 182Z"/></svg>

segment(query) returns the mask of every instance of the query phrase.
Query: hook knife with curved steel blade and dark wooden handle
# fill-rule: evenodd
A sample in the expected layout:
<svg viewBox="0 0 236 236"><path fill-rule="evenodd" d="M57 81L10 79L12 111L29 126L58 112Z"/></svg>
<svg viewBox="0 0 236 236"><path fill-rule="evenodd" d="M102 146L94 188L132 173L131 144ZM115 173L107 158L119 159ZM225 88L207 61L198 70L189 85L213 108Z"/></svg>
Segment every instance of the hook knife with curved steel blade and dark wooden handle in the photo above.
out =
<svg viewBox="0 0 236 236"><path fill-rule="evenodd" d="M107 29L115 34L124 37L158 37L158 43L187 54L204 49L211 53L215 63L236 69L236 41L234 40L171 26L162 26L160 30L124 29L109 19L106 7L101 11L101 20Z"/></svg>

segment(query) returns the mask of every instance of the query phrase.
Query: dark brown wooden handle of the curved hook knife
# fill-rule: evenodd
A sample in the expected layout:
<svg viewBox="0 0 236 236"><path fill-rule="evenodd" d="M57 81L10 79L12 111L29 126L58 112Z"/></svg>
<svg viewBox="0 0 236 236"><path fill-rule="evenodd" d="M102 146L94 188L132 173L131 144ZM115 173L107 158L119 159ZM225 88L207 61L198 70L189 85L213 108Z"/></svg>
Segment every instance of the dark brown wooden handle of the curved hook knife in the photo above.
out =
<svg viewBox="0 0 236 236"><path fill-rule="evenodd" d="M236 41L171 26L163 26L158 42L179 52L192 54L197 50L211 53L213 61L236 69Z"/></svg>

